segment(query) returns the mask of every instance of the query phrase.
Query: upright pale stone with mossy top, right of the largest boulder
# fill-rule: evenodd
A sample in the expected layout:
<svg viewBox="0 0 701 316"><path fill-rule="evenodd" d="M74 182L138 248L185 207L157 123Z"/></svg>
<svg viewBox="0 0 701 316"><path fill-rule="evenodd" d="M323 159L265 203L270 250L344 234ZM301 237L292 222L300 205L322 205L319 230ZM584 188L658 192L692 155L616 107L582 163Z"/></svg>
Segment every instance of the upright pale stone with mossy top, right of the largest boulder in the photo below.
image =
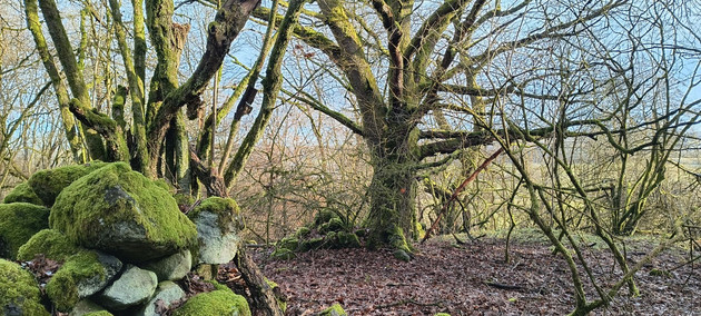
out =
<svg viewBox="0 0 701 316"><path fill-rule="evenodd" d="M226 264L236 256L241 244L238 231L244 228L236 201L210 197L188 217L197 227L198 263Z"/></svg>

